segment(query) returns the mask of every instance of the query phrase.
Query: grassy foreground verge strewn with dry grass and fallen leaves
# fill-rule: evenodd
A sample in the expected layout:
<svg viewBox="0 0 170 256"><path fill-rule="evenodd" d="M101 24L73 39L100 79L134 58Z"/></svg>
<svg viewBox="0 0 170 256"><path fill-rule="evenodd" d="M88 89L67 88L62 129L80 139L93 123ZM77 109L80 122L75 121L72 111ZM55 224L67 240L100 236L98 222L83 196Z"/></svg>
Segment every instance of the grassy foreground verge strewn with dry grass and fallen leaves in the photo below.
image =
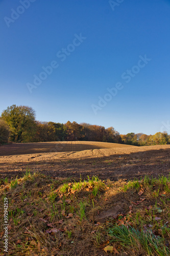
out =
<svg viewBox="0 0 170 256"><path fill-rule="evenodd" d="M0 182L1 205L8 198L9 207L8 255L169 255L168 178L76 182L26 172ZM2 209L1 248L3 224Z"/></svg>

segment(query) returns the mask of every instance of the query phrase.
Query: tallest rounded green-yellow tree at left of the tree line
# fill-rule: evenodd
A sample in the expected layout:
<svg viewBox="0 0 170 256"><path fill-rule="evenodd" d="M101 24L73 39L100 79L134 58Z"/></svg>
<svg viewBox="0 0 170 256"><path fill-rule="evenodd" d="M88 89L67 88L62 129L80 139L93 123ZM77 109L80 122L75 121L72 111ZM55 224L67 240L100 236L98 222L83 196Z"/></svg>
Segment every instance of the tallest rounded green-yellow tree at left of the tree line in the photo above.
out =
<svg viewBox="0 0 170 256"><path fill-rule="evenodd" d="M31 142L35 134L35 111L29 106L8 106L2 118L10 126L11 141Z"/></svg>

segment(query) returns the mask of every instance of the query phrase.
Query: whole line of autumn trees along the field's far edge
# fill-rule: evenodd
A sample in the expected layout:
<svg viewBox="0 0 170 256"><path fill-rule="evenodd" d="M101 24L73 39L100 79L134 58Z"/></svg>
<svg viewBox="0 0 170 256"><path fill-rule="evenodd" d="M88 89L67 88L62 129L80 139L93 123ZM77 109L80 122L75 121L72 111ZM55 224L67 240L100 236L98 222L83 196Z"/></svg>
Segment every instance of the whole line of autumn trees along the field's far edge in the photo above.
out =
<svg viewBox="0 0 170 256"><path fill-rule="evenodd" d="M130 145L170 144L166 132L146 135L142 133L119 134L112 126L67 121L40 122L35 119L35 111L29 106L9 106L0 117L0 144L8 142L47 141L101 141Z"/></svg>

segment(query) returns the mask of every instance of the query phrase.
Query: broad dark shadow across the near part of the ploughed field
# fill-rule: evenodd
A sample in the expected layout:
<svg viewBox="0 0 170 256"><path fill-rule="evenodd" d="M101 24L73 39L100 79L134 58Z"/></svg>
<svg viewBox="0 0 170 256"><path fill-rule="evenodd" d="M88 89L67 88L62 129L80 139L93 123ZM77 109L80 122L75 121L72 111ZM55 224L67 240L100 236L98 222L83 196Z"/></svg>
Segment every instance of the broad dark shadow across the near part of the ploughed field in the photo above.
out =
<svg viewBox="0 0 170 256"><path fill-rule="evenodd" d="M98 176L102 180L134 179L145 175L167 176L170 172L170 148L150 150L109 157L91 157L85 159L34 159L28 162L4 162L1 177L22 176L26 169L38 171L52 177L72 177L75 180Z"/></svg>

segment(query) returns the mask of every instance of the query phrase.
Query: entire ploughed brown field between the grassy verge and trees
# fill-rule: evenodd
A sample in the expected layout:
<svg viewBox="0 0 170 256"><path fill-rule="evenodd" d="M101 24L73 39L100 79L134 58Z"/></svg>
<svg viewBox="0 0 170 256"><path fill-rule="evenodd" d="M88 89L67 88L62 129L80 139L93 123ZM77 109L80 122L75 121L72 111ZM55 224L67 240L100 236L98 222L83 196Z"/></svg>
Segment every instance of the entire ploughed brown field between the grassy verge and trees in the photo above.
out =
<svg viewBox="0 0 170 256"><path fill-rule="evenodd" d="M76 180L134 179L144 175L167 176L170 172L170 145L130 146L116 143L69 141L14 143L0 147L0 177L20 177L38 170L53 177Z"/></svg>

